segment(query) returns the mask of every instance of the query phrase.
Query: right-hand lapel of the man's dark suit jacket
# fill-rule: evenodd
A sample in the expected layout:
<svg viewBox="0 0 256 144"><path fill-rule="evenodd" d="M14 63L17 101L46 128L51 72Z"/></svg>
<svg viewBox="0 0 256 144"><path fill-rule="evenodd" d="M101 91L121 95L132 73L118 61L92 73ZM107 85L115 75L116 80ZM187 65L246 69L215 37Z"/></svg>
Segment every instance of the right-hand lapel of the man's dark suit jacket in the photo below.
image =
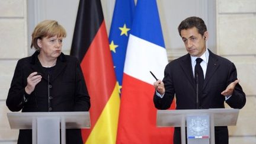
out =
<svg viewBox="0 0 256 144"><path fill-rule="evenodd" d="M214 53L210 52L210 50L209 50L209 60L208 60L208 64L207 64L206 76L204 79L203 89L206 87L206 85L212 78L213 73L215 73L217 68L219 68L219 65L220 65L220 63L218 62L217 57L215 56Z"/></svg>

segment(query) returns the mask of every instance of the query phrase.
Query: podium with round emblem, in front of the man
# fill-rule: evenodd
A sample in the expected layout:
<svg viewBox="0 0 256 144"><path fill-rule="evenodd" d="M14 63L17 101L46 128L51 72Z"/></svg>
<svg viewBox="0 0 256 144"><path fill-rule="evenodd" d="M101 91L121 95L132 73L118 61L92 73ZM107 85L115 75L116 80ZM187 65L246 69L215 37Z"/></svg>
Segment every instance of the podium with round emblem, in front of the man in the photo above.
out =
<svg viewBox="0 0 256 144"><path fill-rule="evenodd" d="M215 126L235 126L238 109L213 108L207 110L158 110L156 126L181 127L181 143L215 143ZM191 136L192 135L192 136ZM210 139L210 141L209 141Z"/></svg>

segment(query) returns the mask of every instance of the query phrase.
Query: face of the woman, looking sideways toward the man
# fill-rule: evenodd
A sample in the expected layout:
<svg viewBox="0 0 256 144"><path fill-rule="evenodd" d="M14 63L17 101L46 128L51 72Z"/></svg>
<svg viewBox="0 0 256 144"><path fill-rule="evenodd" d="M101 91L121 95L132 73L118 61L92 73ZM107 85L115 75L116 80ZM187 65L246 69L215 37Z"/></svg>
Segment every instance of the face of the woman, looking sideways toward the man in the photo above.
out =
<svg viewBox="0 0 256 144"><path fill-rule="evenodd" d="M62 50L63 37L43 37L37 40L37 45L41 48L40 55L49 59L56 59Z"/></svg>

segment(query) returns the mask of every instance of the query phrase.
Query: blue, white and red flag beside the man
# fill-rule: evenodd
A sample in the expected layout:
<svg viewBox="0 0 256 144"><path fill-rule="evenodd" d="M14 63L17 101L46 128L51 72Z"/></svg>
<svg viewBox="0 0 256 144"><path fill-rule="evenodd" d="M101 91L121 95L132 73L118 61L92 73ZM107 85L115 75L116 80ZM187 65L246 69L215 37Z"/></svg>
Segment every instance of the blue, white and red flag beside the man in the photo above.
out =
<svg viewBox="0 0 256 144"><path fill-rule="evenodd" d="M137 0L124 62L117 143L172 143L173 128L156 127L155 79L164 78L167 52L156 0Z"/></svg>

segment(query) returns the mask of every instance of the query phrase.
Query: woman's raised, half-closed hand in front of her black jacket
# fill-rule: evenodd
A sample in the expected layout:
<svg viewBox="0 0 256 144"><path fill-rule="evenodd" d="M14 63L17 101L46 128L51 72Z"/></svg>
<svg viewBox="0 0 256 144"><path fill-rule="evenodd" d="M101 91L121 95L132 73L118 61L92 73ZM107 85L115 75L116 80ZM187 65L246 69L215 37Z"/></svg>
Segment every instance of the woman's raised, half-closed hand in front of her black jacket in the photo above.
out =
<svg viewBox="0 0 256 144"><path fill-rule="evenodd" d="M27 86L25 87L25 92L31 94L34 91L36 85L41 81L42 76L37 75L37 72L32 72L27 77Z"/></svg>

